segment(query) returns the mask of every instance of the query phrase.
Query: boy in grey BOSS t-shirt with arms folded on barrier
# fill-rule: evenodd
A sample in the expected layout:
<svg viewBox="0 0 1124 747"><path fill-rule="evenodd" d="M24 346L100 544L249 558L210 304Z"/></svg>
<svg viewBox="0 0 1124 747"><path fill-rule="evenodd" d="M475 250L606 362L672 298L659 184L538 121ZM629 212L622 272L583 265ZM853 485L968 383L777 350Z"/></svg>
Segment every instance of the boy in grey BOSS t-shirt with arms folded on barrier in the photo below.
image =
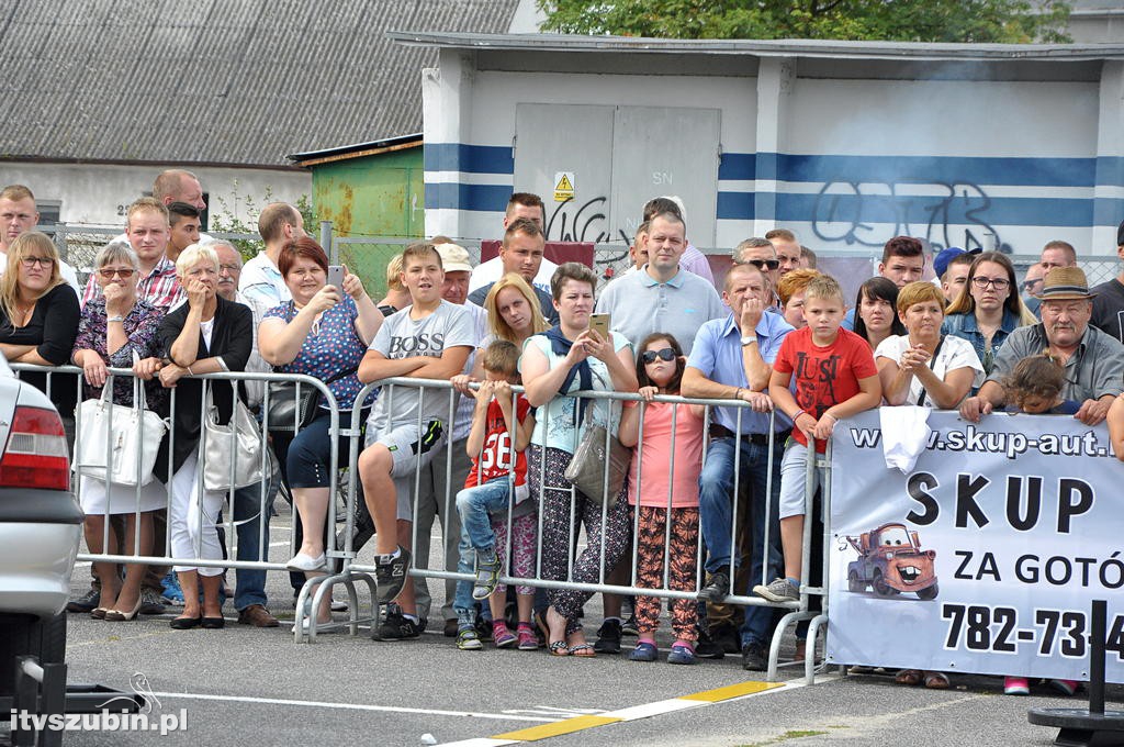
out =
<svg viewBox="0 0 1124 747"><path fill-rule="evenodd" d="M411 244L402 253L402 285L411 305L390 315L360 364L364 384L392 377L443 379L460 374L475 345L471 315L441 297L441 254L433 244ZM359 458L363 495L374 520L379 602L399 597L374 638L417 638L420 627L410 564L411 477L433 459L450 428L451 390L387 386L368 420L371 446ZM396 523L397 520L397 523ZM401 592L401 596L399 596Z"/></svg>

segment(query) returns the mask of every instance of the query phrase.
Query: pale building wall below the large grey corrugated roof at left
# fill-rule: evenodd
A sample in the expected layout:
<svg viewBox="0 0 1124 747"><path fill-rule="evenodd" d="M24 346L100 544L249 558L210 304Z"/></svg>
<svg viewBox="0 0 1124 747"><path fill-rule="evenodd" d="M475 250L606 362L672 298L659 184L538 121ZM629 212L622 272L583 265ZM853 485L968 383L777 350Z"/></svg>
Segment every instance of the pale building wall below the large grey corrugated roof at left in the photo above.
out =
<svg viewBox="0 0 1124 747"><path fill-rule="evenodd" d="M0 161L0 186L26 184L37 200L60 202L63 223L124 227L126 208L152 194L160 171L160 166ZM210 166L189 171L209 195L210 225L220 217L227 224L237 218L256 226L266 202L296 202L312 191L311 177L303 171Z"/></svg>

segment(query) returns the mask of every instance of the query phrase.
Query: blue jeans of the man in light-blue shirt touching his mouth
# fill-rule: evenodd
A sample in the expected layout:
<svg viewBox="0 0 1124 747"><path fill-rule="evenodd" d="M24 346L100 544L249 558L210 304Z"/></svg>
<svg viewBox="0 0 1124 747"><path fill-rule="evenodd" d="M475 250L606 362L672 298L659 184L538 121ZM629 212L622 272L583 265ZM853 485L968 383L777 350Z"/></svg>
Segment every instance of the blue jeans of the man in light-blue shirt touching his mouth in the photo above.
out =
<svg viewBox="0 0 1124 747"><path fill-rule="evenodd" d="M707 547L706 569L710 573L724 570L731 573L731 561L734 568L738 566L734 555L731 532L734 525L734 457L737 440L732 438L713 439L707 450L703 472L699 475L699 523L703 525L703 540ZM772 470L772 489L769 492L769 574L772 578L780 575L783 565L780 546L780 521L778 503L780 497L780 464L785 454L785 442L777 439L770 453L768 444L752 443L749 439L741 440L741 459L736 465L740 482L749 480L750 493L750 531L752 549L750 552L750 586L759 583L765 558L765 490L769 470ZM731 573L733 579L735 574ZM734 590L737 593L738 590ZM744 590L749 593L749 588ZM772 610L765 606L750 606L745 610L745 622L742 624L742 644L763 644L768 638L772 621Z"/></svg>

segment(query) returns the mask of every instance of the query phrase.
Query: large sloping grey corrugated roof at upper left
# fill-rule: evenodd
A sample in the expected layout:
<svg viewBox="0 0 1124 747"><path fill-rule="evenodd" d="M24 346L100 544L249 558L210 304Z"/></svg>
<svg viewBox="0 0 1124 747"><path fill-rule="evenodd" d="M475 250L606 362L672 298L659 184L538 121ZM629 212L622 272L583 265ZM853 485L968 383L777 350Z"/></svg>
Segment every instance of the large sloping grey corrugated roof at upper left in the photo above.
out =
<svg viewBox="0 0 1124 747"><path fill-rule="evenodd" d="M0 158L284 165L422 129L434 48L518 0L7 0Z"/></svg>

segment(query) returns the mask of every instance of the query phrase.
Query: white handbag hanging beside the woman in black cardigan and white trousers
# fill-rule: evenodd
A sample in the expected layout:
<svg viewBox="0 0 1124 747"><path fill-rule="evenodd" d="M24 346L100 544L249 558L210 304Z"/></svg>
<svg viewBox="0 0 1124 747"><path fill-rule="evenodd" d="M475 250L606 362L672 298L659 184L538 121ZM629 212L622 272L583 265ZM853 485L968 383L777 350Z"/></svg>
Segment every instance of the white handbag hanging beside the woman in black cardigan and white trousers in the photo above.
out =
<svg viewBox="0 0 1124 747"><path fill-rule="evenodd" d="M229 490L257 485L266 472L262 470L262 433L250 408L234 392L230 422L218 422L218 408L207 392L207 417L202 426L203 489ZM270 469L265 460L265 469Z"/></svg>

